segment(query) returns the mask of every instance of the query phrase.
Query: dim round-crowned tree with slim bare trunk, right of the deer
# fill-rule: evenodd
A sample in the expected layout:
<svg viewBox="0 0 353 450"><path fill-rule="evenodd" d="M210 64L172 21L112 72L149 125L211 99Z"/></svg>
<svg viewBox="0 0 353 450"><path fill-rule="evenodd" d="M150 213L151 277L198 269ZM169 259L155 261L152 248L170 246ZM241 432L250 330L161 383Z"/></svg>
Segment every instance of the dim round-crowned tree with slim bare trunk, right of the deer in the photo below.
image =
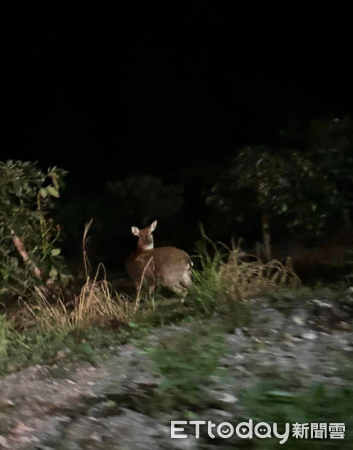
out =
<svg viewBox="0 0 353 450"><path fill-rule="evenodd" d="M337 208L337 189L318 163L299 151L266 146L242 149L207 202L224 215L244 220L256 209L261 219L265 256L271 258L270 227L280 222L287 230L320 231ZM234 205L245 197L244 211ZM234 217L234 216L233 216Z"/></svg>

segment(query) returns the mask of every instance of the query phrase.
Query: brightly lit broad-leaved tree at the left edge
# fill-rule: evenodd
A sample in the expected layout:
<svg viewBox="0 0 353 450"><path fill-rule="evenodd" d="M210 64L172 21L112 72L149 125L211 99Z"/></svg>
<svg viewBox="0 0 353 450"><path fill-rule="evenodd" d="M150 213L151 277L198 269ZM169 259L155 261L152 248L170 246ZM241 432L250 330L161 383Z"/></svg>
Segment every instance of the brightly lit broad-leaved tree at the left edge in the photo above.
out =
<svg viewBox="0 0 353 450"><path fill-rule="evenodd" d="M60 256L60 226L49 213L59 197L62 169L0 162L0 295L24 295L35 285L69 280Z"/></svg>

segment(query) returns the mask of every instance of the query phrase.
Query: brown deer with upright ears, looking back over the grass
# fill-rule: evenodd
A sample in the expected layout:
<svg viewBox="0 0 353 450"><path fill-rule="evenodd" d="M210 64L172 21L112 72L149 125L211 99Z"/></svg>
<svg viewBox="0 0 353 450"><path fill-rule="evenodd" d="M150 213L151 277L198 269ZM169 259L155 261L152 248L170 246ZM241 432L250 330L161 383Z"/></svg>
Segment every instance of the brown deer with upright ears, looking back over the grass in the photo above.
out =
<svg viewBox="0 0 353 450"><path fill-rule="evenodd" d="M152 233L157 220L149 227L140 230L131 227L132 234L138 237L137 250L126 263L127 272L135 282L137 292L147 286L152 295L157 286L164 286L179 294L184 302L192 285L190 256L176 247L154 248Z"/></svg>

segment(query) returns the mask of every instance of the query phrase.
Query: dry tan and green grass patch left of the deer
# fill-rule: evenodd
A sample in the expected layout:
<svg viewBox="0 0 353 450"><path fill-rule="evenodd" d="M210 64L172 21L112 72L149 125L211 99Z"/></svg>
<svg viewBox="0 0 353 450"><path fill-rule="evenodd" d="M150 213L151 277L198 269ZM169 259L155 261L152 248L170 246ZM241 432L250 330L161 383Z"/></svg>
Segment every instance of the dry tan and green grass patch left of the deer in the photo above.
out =
<svg viewBox="0 0 353 450"><path fill-rule="evenodd" d="M71 303L59 298L53 304L40 288L34 298L33 303L21 302L10 320L0 316L0 376L63 358L95 363L110 346L139 334L138 324L148 314L148 309L136 311L134 303L114 296L105 280L88 278Z"/></svg>

